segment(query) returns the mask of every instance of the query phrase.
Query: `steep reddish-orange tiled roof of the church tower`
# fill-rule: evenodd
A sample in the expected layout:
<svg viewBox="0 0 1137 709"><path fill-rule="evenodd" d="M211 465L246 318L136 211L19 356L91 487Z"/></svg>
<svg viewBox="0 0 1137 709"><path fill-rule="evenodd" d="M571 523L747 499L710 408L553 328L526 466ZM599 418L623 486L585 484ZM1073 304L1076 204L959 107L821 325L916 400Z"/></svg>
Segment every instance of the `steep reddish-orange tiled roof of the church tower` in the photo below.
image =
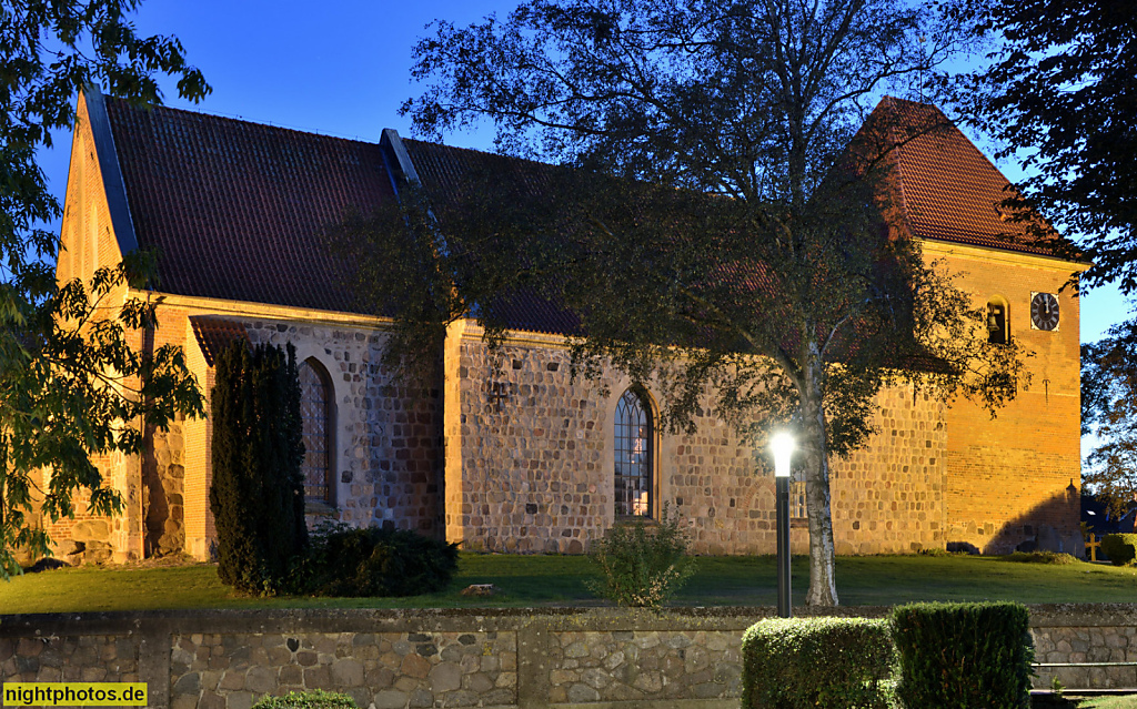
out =
<svg viewBox="0 0 1137 709"><path fill-rule="evenodd" d="M999 205L1018 192L1010 181L935 106L888 97L858 139L887 131L899 206L912 236L980 247L1051 253L1026 223L1004 220ZM856 140L856 139L855 139ZM1049 230L1038 218L1038 224Z"/></svg>

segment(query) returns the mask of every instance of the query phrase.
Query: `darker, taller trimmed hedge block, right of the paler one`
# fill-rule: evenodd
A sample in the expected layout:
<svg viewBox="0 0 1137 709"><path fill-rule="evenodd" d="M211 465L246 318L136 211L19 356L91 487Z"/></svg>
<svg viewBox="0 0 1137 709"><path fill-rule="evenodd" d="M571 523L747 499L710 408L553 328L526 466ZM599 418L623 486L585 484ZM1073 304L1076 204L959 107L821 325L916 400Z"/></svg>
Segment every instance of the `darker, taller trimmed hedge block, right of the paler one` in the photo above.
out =
<svg viewBox="0 0 1137 709"><path fill-rule="evenodd" d="M920 709L1030 706L1030 615L1021 603L912 603L893 609L897 697Z"/></svg>

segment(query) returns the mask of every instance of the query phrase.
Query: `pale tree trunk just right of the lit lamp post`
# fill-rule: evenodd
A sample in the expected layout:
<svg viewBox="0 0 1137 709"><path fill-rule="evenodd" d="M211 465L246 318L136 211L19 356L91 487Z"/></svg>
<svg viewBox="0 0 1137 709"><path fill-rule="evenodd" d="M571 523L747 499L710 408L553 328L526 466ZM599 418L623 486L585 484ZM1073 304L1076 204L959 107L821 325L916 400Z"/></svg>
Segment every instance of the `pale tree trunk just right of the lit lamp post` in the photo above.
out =
<svg viewBox="0 0 1137 709"><path fill-rule="evenodd" d="M821 398L821 358L811 357L802 397L805 503L810 516L810 591L806 606L837 606L833 522L829 509L829 450Z"/></svg>

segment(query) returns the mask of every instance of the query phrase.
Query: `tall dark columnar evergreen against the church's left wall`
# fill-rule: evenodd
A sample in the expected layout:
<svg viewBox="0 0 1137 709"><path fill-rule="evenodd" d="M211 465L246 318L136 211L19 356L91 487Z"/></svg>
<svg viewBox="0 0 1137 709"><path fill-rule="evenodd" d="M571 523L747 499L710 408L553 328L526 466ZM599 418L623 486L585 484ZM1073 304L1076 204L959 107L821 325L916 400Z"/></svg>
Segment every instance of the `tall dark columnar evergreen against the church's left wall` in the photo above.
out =
<svg viewBox="0 0 1137 709"><path fill-rule="evenodd" d="M234 342L217 358L213 484L217 575L254 593L288 590L308 544L296 350Z"/></svg>

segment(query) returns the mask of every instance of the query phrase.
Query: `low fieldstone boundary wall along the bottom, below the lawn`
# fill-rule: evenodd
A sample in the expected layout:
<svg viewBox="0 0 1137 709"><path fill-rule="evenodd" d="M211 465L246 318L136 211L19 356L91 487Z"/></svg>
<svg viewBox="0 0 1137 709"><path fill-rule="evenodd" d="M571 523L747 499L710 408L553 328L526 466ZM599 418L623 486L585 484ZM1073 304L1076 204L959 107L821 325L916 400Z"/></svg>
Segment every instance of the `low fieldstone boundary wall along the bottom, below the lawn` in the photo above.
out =
<svg viewBox="0 0 1137 709"><path fill-rule="evenodd" d="M849 607L818 615L887 612ZM346 692L363 709L733 709L742 632L772 615L772 608L0 615L0 675L146 682L150 707L174 709L247 709L265 694L316 687ZM1057 675L1070 690L1137 687L1137 606L1034 606L1031 626L1036 661L1044 664L1036 686L1048 689Z"/></svg>

